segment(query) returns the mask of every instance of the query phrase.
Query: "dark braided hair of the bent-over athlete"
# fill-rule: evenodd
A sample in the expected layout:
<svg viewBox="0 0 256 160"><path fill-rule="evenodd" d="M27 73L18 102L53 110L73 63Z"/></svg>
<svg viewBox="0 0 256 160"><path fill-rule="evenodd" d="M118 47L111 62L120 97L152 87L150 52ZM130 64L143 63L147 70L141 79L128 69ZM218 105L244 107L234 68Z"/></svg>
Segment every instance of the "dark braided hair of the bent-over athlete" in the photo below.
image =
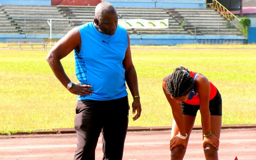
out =
<svg viewBox="0 0 256 160"><path fill-rule="evenodd" d="M180 97L193 90L193 78L188 73L188 68L180 66L174 70L166 83L166 92L174 97Z"/></svg>

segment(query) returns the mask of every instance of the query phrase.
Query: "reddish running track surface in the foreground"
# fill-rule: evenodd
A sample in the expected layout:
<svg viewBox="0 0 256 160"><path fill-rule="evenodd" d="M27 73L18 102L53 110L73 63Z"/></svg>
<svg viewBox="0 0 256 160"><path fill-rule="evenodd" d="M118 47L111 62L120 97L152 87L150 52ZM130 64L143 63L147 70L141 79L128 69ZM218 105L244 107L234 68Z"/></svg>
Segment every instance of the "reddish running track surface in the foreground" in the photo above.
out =
<svg viewBox="0 0 256 160"><path fill-rule="evenodd" d="M96 160L102 160L101 136ZM123 160L170 160L170 130L128 131ZM76 134L0 135L0 160L72 160ZM256 128L222 129L220 160L256 160ZM202 130L192 130L184 160L205 160Z"/></svg>

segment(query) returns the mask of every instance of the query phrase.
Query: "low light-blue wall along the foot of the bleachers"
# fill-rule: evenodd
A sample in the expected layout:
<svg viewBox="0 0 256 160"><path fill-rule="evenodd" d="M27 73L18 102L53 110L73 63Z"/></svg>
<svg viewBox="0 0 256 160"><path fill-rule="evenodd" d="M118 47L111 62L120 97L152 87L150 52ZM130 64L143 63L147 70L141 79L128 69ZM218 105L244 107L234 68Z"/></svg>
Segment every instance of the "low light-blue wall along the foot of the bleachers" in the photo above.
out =
<svg viewBox="0 0 256 160"><path fill-rule="evenodd" d="M62 38L64 35L52 35ZM49 35L26 35L26 38L49 38ZM22 34L0 34L0 42L6 38L25 38ZM246 44L244 36L190 36L190 35L130 35L131 45L176 45L176 44Z"/></svg>

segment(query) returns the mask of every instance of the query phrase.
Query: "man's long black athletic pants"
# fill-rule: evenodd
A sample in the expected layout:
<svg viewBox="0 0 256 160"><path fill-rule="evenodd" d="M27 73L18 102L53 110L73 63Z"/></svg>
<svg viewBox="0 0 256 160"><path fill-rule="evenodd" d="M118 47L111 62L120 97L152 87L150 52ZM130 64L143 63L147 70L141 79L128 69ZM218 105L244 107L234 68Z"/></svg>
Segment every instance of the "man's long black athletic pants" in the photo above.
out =
<svg viewBox="0 0 256 160"><path fill-rule="evenodd" d="M75 116L77 148L74 160L95 160L100 132L103 160L122 160L128 116L128 96L108 101L78 100Z"/></svg>

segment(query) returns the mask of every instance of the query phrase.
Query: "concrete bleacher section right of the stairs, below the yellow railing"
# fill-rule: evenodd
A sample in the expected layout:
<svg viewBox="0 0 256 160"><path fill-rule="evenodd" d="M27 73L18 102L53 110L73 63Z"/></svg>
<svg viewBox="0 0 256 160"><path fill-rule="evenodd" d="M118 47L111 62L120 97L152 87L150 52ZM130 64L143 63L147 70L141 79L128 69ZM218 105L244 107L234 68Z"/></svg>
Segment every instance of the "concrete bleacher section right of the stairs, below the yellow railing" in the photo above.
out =
<svg viewBox="0 0 256 160"><path fill-rule="evenodd" d="M167 12L184 27L196 35L242 36L228 20L214 9L168 9Z"/></svg>

